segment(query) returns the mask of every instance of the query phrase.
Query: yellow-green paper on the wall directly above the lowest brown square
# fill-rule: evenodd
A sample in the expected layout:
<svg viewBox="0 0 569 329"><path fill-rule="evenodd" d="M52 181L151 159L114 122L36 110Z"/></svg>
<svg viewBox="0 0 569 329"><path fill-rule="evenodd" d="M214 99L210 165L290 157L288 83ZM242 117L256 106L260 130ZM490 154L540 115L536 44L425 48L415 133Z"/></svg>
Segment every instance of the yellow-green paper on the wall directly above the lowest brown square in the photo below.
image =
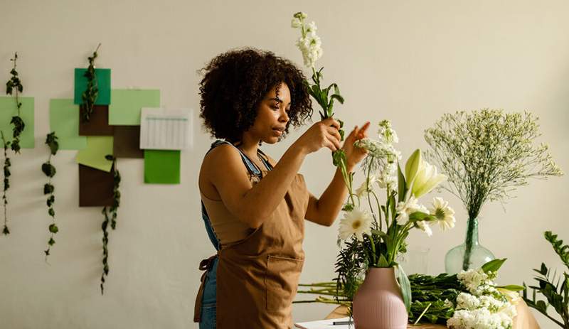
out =
<svg viewBox="0 0 569 329"><path fill-rule="evenodd" d="M77 153L75 161L100 171L111 171L112 161L105 158L112 154L112 136L87 136L87 147Z"/></svg>

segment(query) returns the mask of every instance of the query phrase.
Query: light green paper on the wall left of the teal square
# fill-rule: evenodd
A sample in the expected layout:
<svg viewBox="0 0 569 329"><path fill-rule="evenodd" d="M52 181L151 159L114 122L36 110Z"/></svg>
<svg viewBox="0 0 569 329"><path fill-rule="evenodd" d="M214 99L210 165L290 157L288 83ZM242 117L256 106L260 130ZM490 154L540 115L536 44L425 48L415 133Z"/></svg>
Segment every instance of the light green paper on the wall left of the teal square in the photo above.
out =
<svg viewBox="0 0 569 329"><path fill-rule="evenodd" d="M73 99L49 100L49 126L58 136L59 149L80 150L87 147L87 137L79 136L79 105Z"/></svg>

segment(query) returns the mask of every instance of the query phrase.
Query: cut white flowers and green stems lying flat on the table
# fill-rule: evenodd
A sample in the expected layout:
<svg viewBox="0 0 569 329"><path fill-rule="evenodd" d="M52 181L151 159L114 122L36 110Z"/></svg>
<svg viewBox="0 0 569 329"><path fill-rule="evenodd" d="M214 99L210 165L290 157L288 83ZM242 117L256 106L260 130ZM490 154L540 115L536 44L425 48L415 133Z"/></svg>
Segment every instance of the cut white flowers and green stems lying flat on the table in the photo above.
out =
<svg viewBox="0 0 569 329"><path fill-rule="evenodd" d="M511 328L516 316L515 306L521 301L517 291L523 290L523 286L496 285L494 279L504 261L506 259L494 259L479 269L469 269L459 274L410 275L413 303L409 310L409 323L438 323L452 329ZM361 284L361 280L358 284ZM313 301L296 303L319 302L351 306L352 299L347 286L341 286L339 290L335 282L300 286L310 288L299 293L319 296Z"/></svg>

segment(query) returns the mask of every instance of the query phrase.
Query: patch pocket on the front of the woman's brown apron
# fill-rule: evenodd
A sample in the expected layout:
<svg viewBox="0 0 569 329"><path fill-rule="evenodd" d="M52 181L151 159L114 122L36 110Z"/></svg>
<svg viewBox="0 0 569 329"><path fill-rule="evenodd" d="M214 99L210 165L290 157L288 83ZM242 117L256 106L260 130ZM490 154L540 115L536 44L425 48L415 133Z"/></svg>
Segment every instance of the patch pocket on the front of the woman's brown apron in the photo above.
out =
<svg viewBox="0 0 569 329"><path fill-rule="evenodd" d="M304 259L268 257L265 276L268 311L279 311L292 305L303 264Z"/></svg>

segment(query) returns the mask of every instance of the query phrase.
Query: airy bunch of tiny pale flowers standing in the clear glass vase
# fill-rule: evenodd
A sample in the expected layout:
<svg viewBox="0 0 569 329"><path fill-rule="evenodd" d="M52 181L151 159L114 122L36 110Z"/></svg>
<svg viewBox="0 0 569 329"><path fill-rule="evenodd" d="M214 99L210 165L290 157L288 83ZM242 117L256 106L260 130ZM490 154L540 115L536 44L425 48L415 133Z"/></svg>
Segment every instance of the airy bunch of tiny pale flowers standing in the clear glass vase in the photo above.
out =
<svg viewBox="0 0 569 329"><path fill-rule="evenodd" d="M453 249L460 254L462 269L481 265L472 259L477 244L474 231L487 200L503 202L511 198L510 193L527 185L528 178L563 175L547 144L533 144L541 136L537 122L538 118L529 112L481 109L445 114L425 131L431 148L425 156L447 176L448 184L442 188L462 200L468 212L464 245ZM449 263L447 254L447 272L456 273L458 269L451 271Z"/></svg>

